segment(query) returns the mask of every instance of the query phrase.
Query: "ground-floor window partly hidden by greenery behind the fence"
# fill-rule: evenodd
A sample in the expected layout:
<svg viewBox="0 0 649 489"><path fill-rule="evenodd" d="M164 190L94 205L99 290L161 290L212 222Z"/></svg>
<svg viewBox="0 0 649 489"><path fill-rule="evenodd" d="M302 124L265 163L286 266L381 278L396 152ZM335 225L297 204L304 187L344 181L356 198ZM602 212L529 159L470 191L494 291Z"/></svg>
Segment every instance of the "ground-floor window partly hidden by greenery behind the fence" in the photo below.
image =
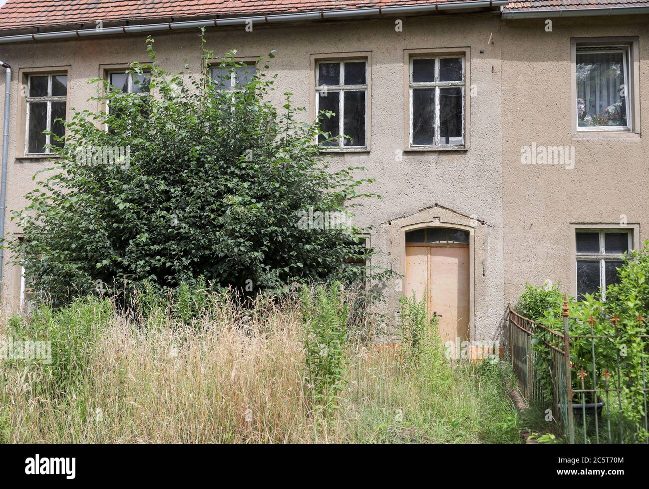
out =
<svg viewBox="0 0 649 489"><path fill-rule="evenodd" d="M599 294L606 299L606 287L618 282L617 268L622 255L633 249L631 231L578 230L576 232L577 295Z"/></svg>

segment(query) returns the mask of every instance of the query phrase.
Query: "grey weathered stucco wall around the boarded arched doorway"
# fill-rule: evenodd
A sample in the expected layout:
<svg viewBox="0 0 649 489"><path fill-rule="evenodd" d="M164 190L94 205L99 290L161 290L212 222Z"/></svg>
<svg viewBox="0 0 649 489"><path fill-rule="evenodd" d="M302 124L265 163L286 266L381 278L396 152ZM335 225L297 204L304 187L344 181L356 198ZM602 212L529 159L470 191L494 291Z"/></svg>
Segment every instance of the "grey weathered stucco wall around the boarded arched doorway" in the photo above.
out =
<svg viewBox="0 0 649 489"><path fill-rule="evenodd" d="M471 253L474 255L474 318L471 331L476 338L495 334L504 305L502 252L501 173L501 62L504 49L501 21L493 14L402 18L403 31L395 32L395 19L354 20L336 23L208 29L208 47L221 55L237 49L240 56L265 55L271 49L270 74L278 76L275 101L282 92L293 92L300 105L310 103L310 55L371 51L372 121L371 151L335 155L339 168L365 166L376 183L367 188L382 195L357 212L356 224L373 225L371 244L378 248L373 265L404 272L404 244L401 227L434 221L476 227ZM489 40L493 44L487 44ZM0 58L19 68L71 66L69 105L95 109L86 99L95 93L88 79L99 76L100 64L146 61L145 36L95 38L0 46ZM467 151L408 152L402 160L395 150L404 149L404 49L469 47L471 79L477 90L471 97L471 147ZM200 60L198 32L159 33L155 36L158 62L163 68L180 71L184 62L197 71ZM484 50L484 53L480 53ZM12 127L8 169L9 210L23 207L23 195L33 186L32 175L47 163L15 160L16 97L18 80L12 87ZM439 204L439 208L431 207ZM420 212L422 209L428 209ZM441 214L440 214L441 213ZM410 216L405 219L399 219ZM472 219L477 218L476 219ZM474 221L472 223L472 221ZM390 223L391 222L391 223ZM387 229L391 231L387 231ZM396 231L395 231L396 230ZM7 221L7 232L18 232ZM19 290L16 270L5 265L6 294L15 307ZM391 290L391 287L388 287ZM392 299L394 295L391 294ZM391 304L394 304L393 302Z"/></svg>

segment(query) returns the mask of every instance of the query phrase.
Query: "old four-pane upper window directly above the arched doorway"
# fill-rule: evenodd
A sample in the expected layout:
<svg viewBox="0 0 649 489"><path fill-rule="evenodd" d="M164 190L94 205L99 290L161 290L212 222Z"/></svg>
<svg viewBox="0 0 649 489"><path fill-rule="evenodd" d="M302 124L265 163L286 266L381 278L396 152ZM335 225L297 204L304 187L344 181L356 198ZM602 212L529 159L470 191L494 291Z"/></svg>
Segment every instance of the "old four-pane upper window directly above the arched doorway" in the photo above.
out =
<svg viewBox="0 0 649 489"><path fill-rule="evenodd" d="M465 57L411 56L410 147L465 144Z"/></svg>

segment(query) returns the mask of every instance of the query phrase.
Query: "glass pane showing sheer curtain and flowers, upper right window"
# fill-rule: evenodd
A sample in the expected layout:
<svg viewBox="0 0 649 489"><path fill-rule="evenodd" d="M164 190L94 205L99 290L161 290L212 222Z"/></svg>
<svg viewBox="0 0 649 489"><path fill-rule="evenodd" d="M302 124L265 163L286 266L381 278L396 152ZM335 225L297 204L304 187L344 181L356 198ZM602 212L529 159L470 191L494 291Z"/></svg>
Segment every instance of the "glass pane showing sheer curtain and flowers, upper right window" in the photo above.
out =
<svg viewBox="0 0 649 489"><path fill-rule="evenodd" d="M626 126L622 51L577 51L577 120L580 127Z"/></svg>

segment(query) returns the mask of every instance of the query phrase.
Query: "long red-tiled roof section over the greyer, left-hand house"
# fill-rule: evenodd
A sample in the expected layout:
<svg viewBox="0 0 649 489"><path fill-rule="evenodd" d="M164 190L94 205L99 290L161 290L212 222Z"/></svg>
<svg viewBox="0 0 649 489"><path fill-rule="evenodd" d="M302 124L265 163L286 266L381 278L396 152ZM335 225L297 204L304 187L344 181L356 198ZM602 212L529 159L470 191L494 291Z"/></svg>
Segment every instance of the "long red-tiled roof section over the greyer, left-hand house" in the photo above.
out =
<svg viewBox="0 0 649 489"><path fill-rule="evenodd" d="M451 0L437 0L445 1ZM435 0L7 0L0 8L0 30L95 25L100 19L137 23L434 3Z"/></svg>

